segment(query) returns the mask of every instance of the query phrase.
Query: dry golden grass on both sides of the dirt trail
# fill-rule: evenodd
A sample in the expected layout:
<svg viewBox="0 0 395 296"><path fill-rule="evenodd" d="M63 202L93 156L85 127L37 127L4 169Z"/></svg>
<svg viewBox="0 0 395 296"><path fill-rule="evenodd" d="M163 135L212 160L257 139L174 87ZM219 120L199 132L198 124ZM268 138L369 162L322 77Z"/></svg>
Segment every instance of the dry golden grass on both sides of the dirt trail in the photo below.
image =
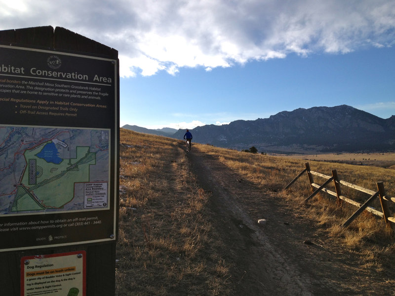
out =
<svg viewBox="0 0 395 296"><path fill-rule="evenodd" d="M323 194L301 206L311 193L307 176L282 190L304 169L305 160L198 144L191 153L194 149L212 155L262 192L276 194L290 211L324 231L339 250L363 260L360 268L376 273L390 268L389 262L395 259L394 239L382 220L365 213L348 228L341 228L356 208L340 208ZM210 192L199 187L191 165L181 141L120 130L116 295L233 295L237 266L225 259L226 242L213 226L215 213L208 206ZM310 161L310 166L326 175L337 169L341 180L371 190L383 181L387 194L395 196L395 170L318 161ZM367 198L346 189L343 195L359 202ZM253 214L261 201L244 198L253 205ZM374 206L380 209L377 203ZM385 284L394 286L393 278L389 275Z"/></svg>

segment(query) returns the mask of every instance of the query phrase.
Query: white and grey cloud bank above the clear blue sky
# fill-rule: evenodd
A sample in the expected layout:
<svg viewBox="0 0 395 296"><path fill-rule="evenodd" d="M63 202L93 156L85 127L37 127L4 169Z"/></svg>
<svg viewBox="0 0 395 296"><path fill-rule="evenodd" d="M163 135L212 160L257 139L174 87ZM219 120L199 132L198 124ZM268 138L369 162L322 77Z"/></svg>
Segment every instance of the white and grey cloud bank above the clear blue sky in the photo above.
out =
<svg viewBox="0 0 395 296"><path fill-rule="evenodd" d="M395 1L0 0L0 30L61 26L116 48L123 77L395 44Z"/></svg>

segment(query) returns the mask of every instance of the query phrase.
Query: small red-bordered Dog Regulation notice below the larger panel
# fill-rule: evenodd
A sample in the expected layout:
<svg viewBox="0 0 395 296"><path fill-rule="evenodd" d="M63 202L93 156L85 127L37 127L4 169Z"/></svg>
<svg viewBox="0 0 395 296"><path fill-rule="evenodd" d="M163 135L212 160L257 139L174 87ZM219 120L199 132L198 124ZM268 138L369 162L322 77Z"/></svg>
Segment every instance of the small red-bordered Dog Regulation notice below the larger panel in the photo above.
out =
<svg viewBox="0 0 395 296"><path fill-rule="evenodd" d="M85 251L21 259L21 296L85 296Z"/></svg>

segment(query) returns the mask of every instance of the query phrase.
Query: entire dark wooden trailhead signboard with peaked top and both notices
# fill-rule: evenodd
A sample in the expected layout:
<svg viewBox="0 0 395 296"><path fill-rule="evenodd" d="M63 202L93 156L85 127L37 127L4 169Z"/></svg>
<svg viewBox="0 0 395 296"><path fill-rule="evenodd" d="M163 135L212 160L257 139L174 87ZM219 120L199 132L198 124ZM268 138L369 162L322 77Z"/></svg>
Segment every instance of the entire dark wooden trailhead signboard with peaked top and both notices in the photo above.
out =
<svg viewBox="0 0 395 296"><path fill-rule="evenodd" d="M116 50L0 31L2 295L114 295L118 90Z"/></svg>

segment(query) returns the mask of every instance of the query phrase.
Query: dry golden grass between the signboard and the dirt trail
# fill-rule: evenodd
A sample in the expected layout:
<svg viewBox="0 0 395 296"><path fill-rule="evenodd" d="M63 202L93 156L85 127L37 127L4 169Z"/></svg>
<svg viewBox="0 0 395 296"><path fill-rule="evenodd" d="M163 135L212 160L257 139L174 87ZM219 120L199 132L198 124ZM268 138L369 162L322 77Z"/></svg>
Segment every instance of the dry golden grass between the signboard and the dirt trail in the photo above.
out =
<svg viewBox="0 0 395 296"><path fill-rule="evenodd" d="M209 194L180 142L124 129L120 139L116 295L229 295Z"/></svg>

